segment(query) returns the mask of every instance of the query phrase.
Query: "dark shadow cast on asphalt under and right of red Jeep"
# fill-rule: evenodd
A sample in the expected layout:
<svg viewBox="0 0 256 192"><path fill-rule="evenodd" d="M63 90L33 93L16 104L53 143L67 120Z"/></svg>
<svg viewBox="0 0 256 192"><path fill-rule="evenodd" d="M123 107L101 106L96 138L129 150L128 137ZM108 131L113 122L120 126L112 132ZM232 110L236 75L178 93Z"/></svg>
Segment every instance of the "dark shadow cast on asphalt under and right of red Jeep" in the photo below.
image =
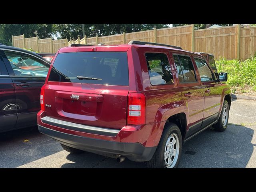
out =
<svg viewBox="0 0 256 192"><path fill-rule="evenodd" d="M251 128L237 124L229 124L224 132L205 130L184 144L179 168L245 168L253 152L253 134ZM88 152L66 158L74 163L62 168L146 168L145 162L117 163Z"/></svg>

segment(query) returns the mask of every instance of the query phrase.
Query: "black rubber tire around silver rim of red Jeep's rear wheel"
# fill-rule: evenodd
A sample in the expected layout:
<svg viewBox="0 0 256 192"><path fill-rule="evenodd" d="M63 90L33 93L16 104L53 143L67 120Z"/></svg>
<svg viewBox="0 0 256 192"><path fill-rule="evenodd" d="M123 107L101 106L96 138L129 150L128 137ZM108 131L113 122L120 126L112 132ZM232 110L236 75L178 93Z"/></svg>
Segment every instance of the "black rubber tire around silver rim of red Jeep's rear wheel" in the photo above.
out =
<svg viewBox="0 0 256 192"><path fill-rule="evenodd" d="M160 138L159 144L156 148L156 151L150 161L147 162L148 168L167 168L164 160L164 152L167 149L166 143L172 134L176 134L178 136L179 140L179 145L176 145L176 148L178 148L178 158L176 160L176 163L173 164L173 168L177 168L179 161L180 161L180 156L181 156L181 151L182 151L182 136L179 127L174 124L174 123L166 123L164 126L164 130L162 132L162 136ZM175 148L175 146L173 146ZM171 157L172 158L172 157ZM172 167L170 166L170 167Z"/></svg>

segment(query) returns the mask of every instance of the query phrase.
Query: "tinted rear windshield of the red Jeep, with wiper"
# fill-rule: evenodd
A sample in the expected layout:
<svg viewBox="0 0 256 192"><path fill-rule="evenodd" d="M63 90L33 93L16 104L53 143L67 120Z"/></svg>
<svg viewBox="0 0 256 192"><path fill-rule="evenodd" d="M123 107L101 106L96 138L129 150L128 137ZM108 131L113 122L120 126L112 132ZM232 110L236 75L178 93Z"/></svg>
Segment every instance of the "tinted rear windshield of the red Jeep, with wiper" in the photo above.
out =
<svg viewBox="0 0 256 192"><path fill-rule="evenodd" d="M88 80L83 77L102 80ZM60 53L52 66L49 81L128 86L127 53Z"/></svg>

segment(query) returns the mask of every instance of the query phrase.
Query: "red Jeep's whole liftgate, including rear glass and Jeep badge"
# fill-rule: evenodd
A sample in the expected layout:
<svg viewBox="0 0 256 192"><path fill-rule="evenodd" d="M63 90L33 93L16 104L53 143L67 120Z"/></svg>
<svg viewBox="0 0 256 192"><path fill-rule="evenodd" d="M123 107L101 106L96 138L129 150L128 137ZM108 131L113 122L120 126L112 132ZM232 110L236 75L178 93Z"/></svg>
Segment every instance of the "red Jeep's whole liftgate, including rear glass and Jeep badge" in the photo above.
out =
<svg viewBox="0 0 256 192"><path fill-rule="evenodd" d="M121 129L128 92L126 52L59 53L44 90L45 112L59 120Z"/></svg>

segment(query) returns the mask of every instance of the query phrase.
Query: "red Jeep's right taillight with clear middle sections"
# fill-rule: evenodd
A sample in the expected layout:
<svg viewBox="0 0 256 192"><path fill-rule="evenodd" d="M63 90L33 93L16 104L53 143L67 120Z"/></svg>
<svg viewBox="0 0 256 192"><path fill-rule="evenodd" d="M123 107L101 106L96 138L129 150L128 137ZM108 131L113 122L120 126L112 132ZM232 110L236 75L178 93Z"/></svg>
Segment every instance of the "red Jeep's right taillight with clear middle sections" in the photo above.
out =
<svg viewBox="0 0 256 192"><path fill-rule="evenodd" d="M146 124L146 97L143 93L129 93L127 108L127 124Z"/></svg>

